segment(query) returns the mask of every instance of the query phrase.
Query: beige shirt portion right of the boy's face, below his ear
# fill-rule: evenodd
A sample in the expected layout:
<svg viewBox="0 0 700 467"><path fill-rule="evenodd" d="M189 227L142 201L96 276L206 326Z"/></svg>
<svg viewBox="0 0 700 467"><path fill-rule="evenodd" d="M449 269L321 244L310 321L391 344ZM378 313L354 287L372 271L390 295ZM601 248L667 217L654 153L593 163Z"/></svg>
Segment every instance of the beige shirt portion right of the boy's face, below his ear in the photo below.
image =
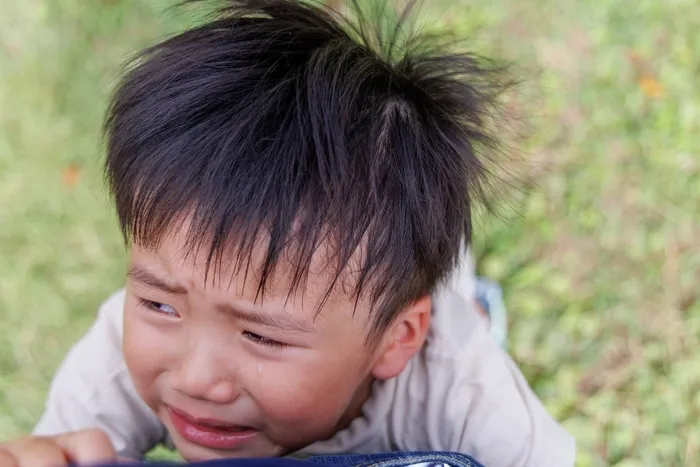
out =
<svg viewBox="0 0 700 467"><path fill-rule="evenodd" d="M375 383L362 417L307 454L453 451L485 465L573 466L573 438L491 338L469 277L461 279L434 294L421 352L398 377Z"/></svg>

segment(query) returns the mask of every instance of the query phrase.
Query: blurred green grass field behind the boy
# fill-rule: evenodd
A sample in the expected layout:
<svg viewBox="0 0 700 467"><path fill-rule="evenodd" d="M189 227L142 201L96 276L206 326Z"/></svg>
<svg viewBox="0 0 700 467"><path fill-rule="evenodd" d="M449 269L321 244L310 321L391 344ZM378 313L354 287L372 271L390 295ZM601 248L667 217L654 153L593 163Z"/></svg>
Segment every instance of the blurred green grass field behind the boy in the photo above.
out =
<svg viewBox="0 0 700 467"><path fill-rule="evenodd" d="M0 0L0 438L31 429L120 287L100 120L129 53L185 24L146 0ZM532 189L479 221L511 352L581 466L700 465L700 4L427 0L517 61Z"/></svg>

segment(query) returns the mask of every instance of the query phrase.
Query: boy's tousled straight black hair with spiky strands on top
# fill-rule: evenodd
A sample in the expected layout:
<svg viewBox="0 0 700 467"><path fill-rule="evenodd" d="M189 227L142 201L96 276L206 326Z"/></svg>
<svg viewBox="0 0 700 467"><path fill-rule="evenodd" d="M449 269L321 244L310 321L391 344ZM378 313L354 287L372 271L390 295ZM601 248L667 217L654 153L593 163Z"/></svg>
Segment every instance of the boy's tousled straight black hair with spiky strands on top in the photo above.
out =
<svg viewBox="0 0 700 467"><path fill-rule="evenodd" d="M282 258L303 287L325 245L329 293L357 266L375 337L432 292L470 241L506 81L437 36L400 40L409 9L387 33L367 14L231 0L140 54L105 123L127 244L157 247L187 217L215 272L248 268L264 239L260 293Z"/></svg>

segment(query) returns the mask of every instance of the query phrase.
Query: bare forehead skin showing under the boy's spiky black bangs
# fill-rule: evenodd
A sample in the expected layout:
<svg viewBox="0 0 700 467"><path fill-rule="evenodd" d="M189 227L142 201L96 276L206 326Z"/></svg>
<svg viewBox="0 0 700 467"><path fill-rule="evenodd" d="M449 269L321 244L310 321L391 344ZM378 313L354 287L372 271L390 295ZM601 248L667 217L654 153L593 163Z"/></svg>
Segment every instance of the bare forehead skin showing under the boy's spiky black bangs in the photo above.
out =
<svg viewBox="0 0 700 467"><path fill-rule="evenodd" d="M339 305L346 307L351 303L353 317L364 320L369 332L372 303L366 293L362 293L359 298L355 294L366 239L360 242L340 272L332 244L329 241L320 243L311 255L308 269L301 271L301 277L296 283L295 274L300 273L299 252L295 250L292 241L280 254L262 289L260 281L268 242L266 234L259 235L252 247L245 251L238 250L236 245L224 247L221 255L214 256L211 264L207 264L209 245L205 241L201 247L191 248L189 229L189 219L186 218L183 222L174 223L174 228L158 242L158 248L139 245L132 247L139 253L148 253L149 256L158 258L163 273L168 277L181 277L184 281L182 284L168 284L170 286L188 290L226 290L227 294L245 297L258 311L268 308L297 311L303 308L307 312L313 310L314 321L323 319L322 312L325 308L337 308ZM132 264L129 276L145 279L144 272L149 271L139 264Z"/></svg>

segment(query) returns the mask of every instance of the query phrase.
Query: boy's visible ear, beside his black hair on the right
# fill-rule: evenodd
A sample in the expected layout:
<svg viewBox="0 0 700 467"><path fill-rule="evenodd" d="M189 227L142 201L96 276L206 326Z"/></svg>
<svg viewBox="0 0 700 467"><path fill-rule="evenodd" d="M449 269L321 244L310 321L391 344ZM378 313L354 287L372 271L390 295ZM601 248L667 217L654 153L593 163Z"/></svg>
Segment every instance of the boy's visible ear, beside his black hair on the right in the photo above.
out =
<svg viewBox="0 0 700 467"><path fill-rule="evenodd" d="M399 375L425 343L430 327L432 301L429 295L410 304L388 329L379 346L372 375L390 379Z"/></svg>

